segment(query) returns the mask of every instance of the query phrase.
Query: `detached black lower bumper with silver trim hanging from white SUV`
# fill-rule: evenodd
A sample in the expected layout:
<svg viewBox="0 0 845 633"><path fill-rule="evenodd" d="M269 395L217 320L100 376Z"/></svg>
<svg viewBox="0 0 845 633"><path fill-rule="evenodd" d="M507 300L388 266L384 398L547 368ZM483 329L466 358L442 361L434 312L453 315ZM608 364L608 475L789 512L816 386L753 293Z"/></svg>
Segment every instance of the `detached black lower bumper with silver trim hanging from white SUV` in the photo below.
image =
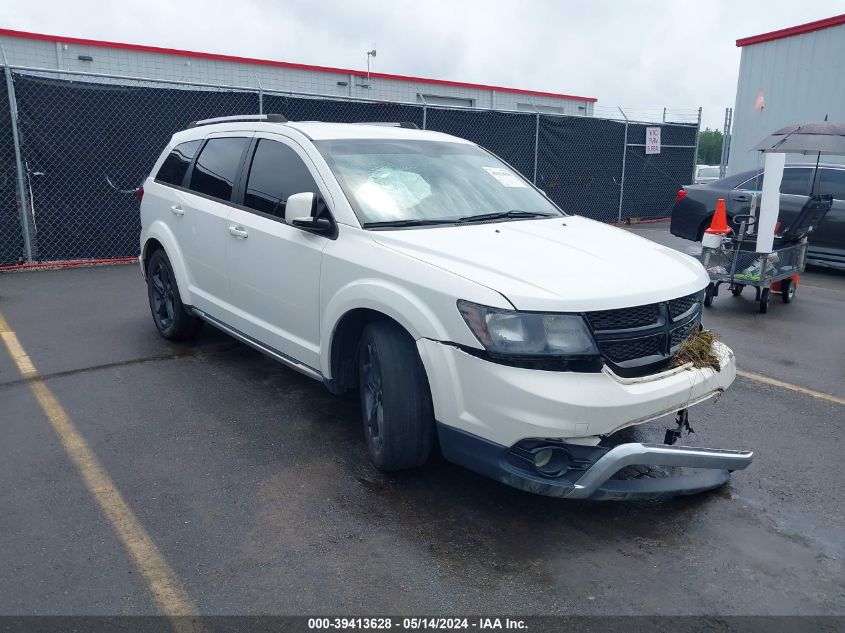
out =
<svg viewBox="0 0 845 633"><path fill-rule="evenodd" d="M605 448L538 439L507 448L445 425L438 425L438 432L450 461L527 492L568 499L646 500L697 494L726 484L732 471L748 467L753 458L751 451L638 442ZM537 454L549 450L553 457L538 468ZM696 470L614 479L629 466Z"/></svg>

